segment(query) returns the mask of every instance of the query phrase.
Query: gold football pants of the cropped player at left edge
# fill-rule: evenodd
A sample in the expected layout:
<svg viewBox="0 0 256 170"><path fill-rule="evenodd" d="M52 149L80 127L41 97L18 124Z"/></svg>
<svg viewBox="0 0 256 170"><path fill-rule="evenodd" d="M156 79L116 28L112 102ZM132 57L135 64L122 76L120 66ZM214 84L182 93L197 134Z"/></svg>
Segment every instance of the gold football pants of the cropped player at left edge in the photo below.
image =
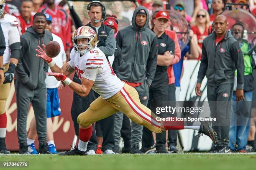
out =
<svg viewBox="0 0 256 170"><path fill-rule="evenodd" d="M4 72L9 68L9 63L4 65ZM0 84L0 115L5 113L5 103L10 92L10 83Z"/></svg>

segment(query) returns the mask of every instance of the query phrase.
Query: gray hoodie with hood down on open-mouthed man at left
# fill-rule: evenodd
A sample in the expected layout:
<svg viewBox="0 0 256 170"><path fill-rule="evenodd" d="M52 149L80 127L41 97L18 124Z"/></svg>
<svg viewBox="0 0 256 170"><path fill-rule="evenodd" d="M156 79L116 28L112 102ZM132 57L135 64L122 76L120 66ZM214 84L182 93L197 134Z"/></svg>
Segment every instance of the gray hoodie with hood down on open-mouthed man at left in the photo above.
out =
<svg viewBox="0 0 256 170"><path fill-rule="evenodd" d="M36 56L37 46L47 44L52 41L52 35L49 31L44 31L44 35L36 33L32 27L20 37L20 59L15 69L15 79L26 84L31 90L45 85L46 72L48 64L43 59Z"/></svg>

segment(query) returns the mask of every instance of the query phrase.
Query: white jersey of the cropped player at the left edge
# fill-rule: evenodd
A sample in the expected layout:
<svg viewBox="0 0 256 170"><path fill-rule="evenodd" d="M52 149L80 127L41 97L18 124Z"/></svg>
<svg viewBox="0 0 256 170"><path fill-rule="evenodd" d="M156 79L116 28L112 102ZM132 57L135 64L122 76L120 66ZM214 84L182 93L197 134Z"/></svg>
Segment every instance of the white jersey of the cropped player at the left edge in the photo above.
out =
<svg viewBox="0 0 256 170"><path fill-rule="evenodd" d="M0 18L0 24L5 36L6 49L3 55L3 64L5 65L10 62L10 45L15 42L20 42L20 33L17 28L18 20L13 15L5 14L3 18Z"/></svg>

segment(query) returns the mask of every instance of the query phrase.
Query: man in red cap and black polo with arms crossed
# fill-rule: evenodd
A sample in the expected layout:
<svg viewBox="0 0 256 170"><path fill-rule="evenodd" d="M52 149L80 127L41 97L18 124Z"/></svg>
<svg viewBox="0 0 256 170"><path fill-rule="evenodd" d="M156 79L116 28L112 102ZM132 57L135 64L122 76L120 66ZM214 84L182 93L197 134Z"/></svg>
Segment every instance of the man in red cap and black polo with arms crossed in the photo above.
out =
<svg viewBox="0 0 256 170"><path fill-rule="evenodd" d="M159 11L153 20L154 33L158 40L157 67L154 80L149 88L148 108L156 110L156 107L165 107L164 103L168 100L168 82L167 69L174 59L175 42L165 33L168 26L169 14L165 11ZM165 117L166 114L159 115ZM146 133L149 131L149 133ZM143 128L143 148L150 148L153 139L152 132ZM165 149L166 133L156 134L156 153L168 153ZM143 149L142 149L143 150Z"/></svg>

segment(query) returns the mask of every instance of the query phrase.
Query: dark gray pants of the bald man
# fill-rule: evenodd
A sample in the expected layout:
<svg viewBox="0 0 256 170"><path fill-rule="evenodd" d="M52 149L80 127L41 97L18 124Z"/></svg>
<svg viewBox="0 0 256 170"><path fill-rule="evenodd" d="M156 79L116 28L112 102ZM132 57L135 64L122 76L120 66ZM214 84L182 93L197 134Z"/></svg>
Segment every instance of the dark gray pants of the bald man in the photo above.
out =
<svg viewBox="0 0 256 170"><path fill-rule="evenodd" d="M207 98L211 110L213 129L218 134L218 145L228 146L228 135L230 126L231 99L233 95L233 84L219 86L207 85Z"/></svg>

